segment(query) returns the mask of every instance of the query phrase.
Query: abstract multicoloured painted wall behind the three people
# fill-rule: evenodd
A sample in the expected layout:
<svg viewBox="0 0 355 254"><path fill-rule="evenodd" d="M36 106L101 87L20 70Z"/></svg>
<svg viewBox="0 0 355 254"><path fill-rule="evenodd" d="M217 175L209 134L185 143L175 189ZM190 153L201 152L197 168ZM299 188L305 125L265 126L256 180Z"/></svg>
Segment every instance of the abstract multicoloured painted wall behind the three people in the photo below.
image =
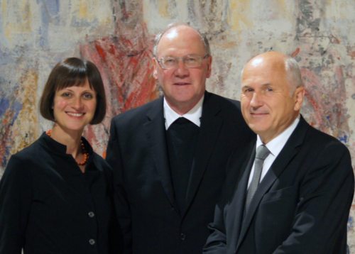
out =
<svg viewBox="0 0 355 254"><path fill-rule="evenodd" d="M239 99L240 70L253 55L280 50L300 62L302 114L351 151L355 165L354 0L0 0L0 176L11 154L50 128L38 100L51 68L83 56L102 72L109 110L85 136L104 155L112 116L151 101L151 48L174 21L207 33L210 92ZM355 253L355 205L349 246Z"/></svg>

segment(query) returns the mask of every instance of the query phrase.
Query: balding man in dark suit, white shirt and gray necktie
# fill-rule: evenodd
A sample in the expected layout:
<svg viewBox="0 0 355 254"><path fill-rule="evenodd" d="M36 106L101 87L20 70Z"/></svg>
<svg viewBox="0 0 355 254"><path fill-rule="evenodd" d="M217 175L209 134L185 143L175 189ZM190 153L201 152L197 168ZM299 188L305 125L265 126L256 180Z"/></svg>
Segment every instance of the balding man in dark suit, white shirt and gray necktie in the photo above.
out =
<svg viewBox="0 0 355 254"><path fill-rule="evenodd" d="M241 111L257 137L231 155L204 253L346 253L350 153L302 118L304 95L292 57L268 52L244 66Z"/></svg>

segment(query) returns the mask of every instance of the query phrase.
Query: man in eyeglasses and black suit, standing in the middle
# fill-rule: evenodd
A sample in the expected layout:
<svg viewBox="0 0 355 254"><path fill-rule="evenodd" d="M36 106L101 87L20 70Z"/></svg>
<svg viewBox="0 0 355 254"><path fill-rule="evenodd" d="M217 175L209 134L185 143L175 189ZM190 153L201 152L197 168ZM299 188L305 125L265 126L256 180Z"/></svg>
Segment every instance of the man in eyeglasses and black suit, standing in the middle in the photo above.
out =
<svg viewBox="0 0 355 254"><path fill-rule="evenodd" d="M253 134L239 101L206 91L212 56L195 28L157 35L153 76L164 96L116 116L113 167L126 253L202 253L231 151Z"/></svg>

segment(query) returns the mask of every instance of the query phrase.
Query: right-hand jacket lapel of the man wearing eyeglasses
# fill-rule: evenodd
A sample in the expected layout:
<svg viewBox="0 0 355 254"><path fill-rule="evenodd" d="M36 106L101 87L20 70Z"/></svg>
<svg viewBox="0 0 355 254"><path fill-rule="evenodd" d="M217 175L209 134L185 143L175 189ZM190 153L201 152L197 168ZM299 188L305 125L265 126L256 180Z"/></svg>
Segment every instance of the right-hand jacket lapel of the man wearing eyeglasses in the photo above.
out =
<svg viewBox="0 0 355 254"><path fill-rule="evenodd" d="M197 138L195 158L192 162L192 171L187 187L185 212L189 208L197 189L200 186L200 181L207 168L209 158L212 155L214 144L219 136L220 128L223 123L222 117L219 116L219 111L221 111L221 108L218 104L214 103L213 96L208 92L205 92L200 133Z"/></svg>

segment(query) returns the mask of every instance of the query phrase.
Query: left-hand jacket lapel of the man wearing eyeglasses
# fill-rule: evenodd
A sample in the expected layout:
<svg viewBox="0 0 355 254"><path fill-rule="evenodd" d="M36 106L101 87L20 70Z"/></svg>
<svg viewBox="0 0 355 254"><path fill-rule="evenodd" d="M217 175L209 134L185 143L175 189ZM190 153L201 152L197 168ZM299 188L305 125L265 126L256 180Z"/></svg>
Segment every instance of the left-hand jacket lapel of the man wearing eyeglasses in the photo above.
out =
<svg viewBox="0 0 355 254"><path fill-rule="evenodd" d="M146 136L153 153L155 167L160 175L163 189L170 201L175 206L173 184L169 170L168 151L165 140L165 122L163 114L163 97L155 101L147 113L147 121L144 124Z"/></svg>

